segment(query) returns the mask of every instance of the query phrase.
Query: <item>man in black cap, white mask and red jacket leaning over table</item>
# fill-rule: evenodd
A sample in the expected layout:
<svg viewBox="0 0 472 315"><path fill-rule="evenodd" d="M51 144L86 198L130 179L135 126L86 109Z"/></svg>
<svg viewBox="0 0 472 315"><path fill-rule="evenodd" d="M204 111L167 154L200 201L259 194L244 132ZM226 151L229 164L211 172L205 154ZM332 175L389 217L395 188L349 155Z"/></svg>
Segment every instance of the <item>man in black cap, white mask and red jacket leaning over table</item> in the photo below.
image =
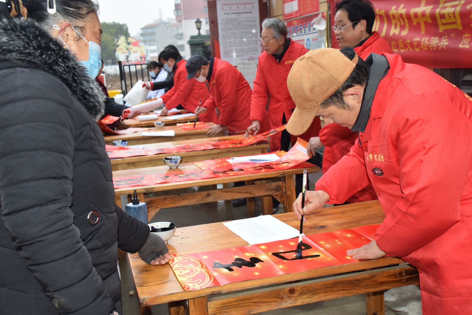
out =
<svg viewBox="0 0 472 315"><path fill-rule="evenodd" d="M228 127L228 132L241 131L251 124L249 113L253 91L244 76L235 66L218 58L210 60L201 55L188 59L185 65L187 80L207 82L210 98L196 109L196 114L219 109L218 125L213 127L209 136L215 136ZM259 130L260 131L260 130Z"/></svg>

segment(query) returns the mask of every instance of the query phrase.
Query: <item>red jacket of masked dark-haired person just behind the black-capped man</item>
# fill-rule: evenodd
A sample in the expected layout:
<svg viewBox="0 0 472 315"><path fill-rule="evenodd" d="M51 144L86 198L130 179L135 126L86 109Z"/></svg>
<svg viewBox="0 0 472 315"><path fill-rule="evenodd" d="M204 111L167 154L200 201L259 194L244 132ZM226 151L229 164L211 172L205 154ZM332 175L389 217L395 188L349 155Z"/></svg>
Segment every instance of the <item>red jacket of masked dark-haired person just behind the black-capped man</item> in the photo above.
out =
<svg viewBox="0 0 472 315"><path fill-rule="evenodd" d="M168 109L176 108L179 104L182 104L187 111L195 113L200 100L204 104L210 97L210 93L205 83L187 80L186 63L185 60L180 60L177 63L177 69L174 73L174 86L161 98ZM200 115L200 121L217 123L218 118L215 111L208 111Z"/></svg>

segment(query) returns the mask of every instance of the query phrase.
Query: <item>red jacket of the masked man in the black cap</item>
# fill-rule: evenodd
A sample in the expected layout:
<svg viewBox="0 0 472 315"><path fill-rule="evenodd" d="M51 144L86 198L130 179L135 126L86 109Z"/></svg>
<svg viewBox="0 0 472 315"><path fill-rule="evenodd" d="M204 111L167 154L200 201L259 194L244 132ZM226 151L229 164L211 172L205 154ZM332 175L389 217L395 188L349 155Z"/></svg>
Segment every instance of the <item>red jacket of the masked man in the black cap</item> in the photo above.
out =
<svg viewBox="0 0 472 315"><path fill-rule="evenodd" d="M218 124L228 126L229 132L247 129L251 125L249 112L253 91L241 72L234 65L214 58L210 80L210 98L203 107L209 112L218 107Z"/></svg>

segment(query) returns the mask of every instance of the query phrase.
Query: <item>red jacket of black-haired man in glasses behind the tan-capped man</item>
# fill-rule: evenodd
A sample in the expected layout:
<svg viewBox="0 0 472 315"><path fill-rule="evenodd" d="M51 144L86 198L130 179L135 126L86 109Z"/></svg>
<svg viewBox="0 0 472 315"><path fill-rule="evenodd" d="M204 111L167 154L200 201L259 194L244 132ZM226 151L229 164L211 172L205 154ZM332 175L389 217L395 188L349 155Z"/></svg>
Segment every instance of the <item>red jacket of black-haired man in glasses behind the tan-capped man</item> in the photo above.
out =
<svg viewBox="0 0 472 315"><path fill-rule="evenodd" d="M378 32L372 32L372 35L361 45L354 48L359 57L365 60L371 53L381 54L383 52L393 54L392 48L388 42L379 36ZM342 127L335 123L330 123L320 131L320 141L325 145L323 153L323 174L329 168L336 164L343 156L351 150L351 146L357 139L357 133L352 132L347 127ZM347 199L349 203L377 200L372 185L356 192Z"/></svg>

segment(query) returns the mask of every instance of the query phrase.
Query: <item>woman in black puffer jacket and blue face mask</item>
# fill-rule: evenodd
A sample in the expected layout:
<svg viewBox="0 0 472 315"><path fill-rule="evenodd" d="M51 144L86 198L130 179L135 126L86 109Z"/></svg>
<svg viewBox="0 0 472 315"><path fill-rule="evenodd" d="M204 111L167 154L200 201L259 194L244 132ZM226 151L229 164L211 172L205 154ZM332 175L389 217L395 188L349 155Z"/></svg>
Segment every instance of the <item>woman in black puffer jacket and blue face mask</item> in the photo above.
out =
<svg viewBox="0 0 472 315"><path fill-rule="evenodd" d="M0 314L120 313L118 248L153 265L169 253L115 206L97 5L47 2L0 2Z"/></svg>

